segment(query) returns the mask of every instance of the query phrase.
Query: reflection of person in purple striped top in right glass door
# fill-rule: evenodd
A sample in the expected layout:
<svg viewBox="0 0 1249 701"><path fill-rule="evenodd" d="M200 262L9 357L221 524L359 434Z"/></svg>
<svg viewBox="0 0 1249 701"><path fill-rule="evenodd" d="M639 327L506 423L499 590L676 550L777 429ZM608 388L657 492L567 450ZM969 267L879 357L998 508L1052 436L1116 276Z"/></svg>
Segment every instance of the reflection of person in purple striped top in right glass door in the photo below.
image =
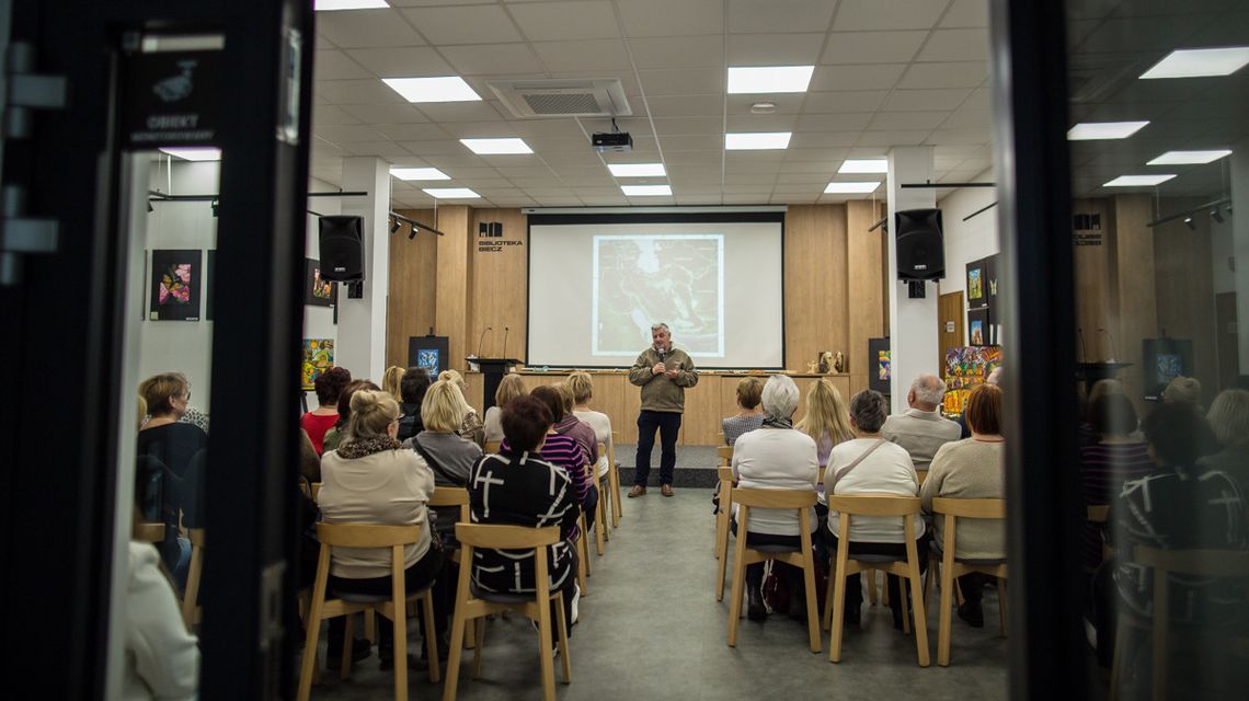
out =
<svg viewBox="0 0 1249 701"><path fill-rule="evenodd" d="M1097 392L1095 392L1097 394ZM1080 481L1089 506L1110 504L1128 480L1153 471L1148 447L1135 439L1137 410L1123 394L1100 392L1089 406L1089 429L1097 442L1080 449ZM1102 564L1102 527L1084 522L1084 566Z"/></svg>

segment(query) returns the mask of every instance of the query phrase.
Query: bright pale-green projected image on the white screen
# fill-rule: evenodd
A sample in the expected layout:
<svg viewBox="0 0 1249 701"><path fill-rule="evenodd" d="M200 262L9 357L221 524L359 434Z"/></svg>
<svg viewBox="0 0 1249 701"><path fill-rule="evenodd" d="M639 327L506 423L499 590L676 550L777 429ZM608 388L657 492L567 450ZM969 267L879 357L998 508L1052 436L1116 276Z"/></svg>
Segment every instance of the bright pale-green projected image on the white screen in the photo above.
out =
<svg viewBox="0 0 1249 701"><path fill-rule="evenodd" d="M691 356L724 354L721 234L595 236L595 355L631 355L666 322Z"/></svg>

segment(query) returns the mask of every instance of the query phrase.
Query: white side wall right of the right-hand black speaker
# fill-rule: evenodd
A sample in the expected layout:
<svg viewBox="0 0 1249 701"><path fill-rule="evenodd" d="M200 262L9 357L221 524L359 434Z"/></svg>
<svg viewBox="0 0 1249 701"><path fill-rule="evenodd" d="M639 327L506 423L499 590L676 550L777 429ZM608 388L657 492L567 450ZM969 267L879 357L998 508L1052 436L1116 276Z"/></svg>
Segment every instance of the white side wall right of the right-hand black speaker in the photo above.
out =
<svg viewBox="0 0 1249 701"><path fill-rule="evenodd" d="M975 182L992 182L993 170L989 169L972 179ZM963 309L967 309L967 264L997 254L1002 250L998 235L998 217L993 209L963 221L964 216L997 201L995 187L962 187L937 202L942 210L942 225L945 227L945 279L940 281L939 294L963 292ZM963 329L967 342L967 329Z"/></svg>

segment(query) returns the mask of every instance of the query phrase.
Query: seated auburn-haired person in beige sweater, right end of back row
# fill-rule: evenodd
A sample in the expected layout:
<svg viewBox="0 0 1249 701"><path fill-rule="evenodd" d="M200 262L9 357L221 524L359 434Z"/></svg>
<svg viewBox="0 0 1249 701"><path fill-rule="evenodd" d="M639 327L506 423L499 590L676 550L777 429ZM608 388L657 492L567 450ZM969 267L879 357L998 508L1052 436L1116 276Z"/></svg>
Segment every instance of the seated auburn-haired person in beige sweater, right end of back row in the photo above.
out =
<svg viewBox="0 0 1249 701"><path fill-rule="evenodd" d="M919 489L926 512L933 512L933 497L1005 499L1005 444L1002 437L1002 390L980 385L967 397L963 411L972 437L948 442L937 449L928 477ZM933 539L945 540L945 517L933 516ZM1005 560L1004 521L960 519L954 531L954 557L963 560ZM958 577L963 604L958 617L973 627L984 627L980 600L990 577L972 572Z"/></svg>

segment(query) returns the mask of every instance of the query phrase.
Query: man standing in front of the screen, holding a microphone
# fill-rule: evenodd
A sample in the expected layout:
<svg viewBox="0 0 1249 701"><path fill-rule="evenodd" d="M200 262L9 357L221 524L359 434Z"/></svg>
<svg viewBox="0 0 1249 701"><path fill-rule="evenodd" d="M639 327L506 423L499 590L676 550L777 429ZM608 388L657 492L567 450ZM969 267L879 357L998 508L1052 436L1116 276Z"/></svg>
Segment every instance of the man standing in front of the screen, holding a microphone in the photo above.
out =
<svg viewBox="0 0 1249 701"><path fill-rule="evenodd" d="M651 340L651 347L637 356L628 372L628 381L642 387L642 412L637 417L637 467L629 499L646 494L656 429L661 441L659 490L663 496L672 496L677 431L681 430L681 412L686 407L686 387L698 384L694 362L684 351L672 347L672 332L667 324L652 325Z"/></svg>

